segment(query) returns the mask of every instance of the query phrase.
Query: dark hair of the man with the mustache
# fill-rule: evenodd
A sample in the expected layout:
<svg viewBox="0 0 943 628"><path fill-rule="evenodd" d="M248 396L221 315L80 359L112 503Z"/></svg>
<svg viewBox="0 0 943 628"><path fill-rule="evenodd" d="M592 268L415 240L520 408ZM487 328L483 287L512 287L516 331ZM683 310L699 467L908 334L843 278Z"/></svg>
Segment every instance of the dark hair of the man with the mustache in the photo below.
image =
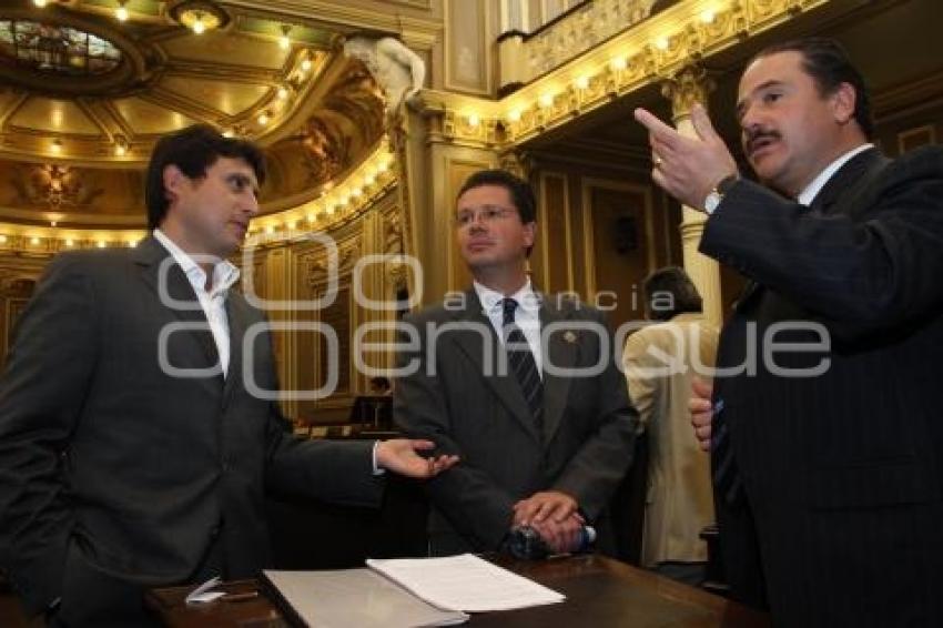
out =
<svg viewBox="0 0 943 628"><path fill-rule="evenodd" d="M833 94L842 83L854 88L854 120L865 138L870 140L874 135L871 94L864 83L864 77L852 65L839 42L823 37L793 39L764 48L753 60L780 52L798 52L802 55L802 69L815 81L821 95Z"/></svg>

